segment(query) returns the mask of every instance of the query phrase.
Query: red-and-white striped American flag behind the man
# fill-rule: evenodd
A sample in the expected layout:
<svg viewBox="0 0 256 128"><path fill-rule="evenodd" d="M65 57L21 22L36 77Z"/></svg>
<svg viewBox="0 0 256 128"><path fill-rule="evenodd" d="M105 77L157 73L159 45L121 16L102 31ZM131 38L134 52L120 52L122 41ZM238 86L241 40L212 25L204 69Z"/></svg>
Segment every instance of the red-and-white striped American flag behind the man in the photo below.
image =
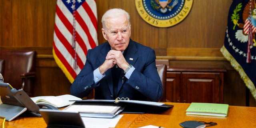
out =
<svg viewBox="0 0 256 128"><path fill-rule="evenodd" d="M72 83L86 62L87 50L98 45L94 0L57 0L53 56Z"/></svg>

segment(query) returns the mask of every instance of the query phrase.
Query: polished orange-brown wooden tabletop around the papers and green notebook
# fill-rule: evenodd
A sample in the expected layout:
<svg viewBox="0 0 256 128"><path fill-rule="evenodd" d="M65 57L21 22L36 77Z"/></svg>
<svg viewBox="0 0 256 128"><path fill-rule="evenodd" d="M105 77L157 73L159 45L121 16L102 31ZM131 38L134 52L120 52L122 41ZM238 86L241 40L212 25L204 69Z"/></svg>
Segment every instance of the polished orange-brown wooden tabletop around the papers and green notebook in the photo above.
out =
<svg viewBox="0 0 256 128"><path fill-rule="evenodd" d="M256 108L229 106L227 117L186 115L188 103L166 103L174 107L161 114L124 114L116 128L138 128L147 125L164 128L182 128L179 123L196 120L216 122L211 128L256 128ZM1 126L2 127L2 126ZM43 118L18 117L11 122L5 122L5 128L46 128Z"/></svg>

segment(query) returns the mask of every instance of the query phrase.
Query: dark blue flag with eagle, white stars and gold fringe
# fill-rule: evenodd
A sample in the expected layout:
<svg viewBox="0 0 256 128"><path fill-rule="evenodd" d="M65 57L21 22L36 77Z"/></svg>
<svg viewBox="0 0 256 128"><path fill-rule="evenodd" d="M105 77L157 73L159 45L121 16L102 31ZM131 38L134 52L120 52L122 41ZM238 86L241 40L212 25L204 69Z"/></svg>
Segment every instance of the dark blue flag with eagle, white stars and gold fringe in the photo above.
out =
<svg viewBox="0 0 256 128"><path fill-rule="evenodd" d="M233 0L229 14L223 56L239 72L256 99L256 6L255 0Z"/></svg>

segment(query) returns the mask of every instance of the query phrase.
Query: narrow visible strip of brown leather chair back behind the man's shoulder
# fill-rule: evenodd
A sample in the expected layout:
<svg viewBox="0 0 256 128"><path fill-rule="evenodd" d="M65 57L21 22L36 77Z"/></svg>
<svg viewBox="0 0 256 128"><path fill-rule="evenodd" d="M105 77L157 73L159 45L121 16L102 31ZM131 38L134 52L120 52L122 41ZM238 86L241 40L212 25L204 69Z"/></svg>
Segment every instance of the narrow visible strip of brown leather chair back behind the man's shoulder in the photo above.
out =
<svg viewBox="0 0 256 128"><path fill-rule="evenodd" d="M166 76L167 76L167 66L166 64L156 64L157 72L160 76L163 85L163 96L160 98L159 102L166 102Z"/></svg>

